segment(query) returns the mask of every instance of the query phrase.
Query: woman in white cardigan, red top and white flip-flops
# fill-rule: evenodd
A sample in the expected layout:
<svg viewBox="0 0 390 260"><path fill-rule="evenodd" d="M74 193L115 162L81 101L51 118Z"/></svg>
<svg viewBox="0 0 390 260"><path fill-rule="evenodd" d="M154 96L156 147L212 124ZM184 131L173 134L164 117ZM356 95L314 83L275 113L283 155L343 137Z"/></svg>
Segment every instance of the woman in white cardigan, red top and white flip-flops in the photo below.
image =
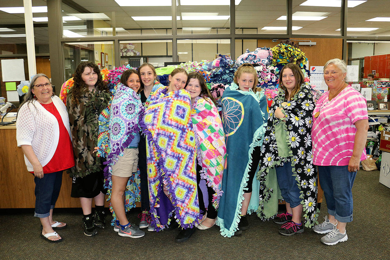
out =
<svg viewBox="0 0 390 260"><path fill-rule="evenodd" d="M60 193L62 172L74 166L74 157L66 107L53 95L53 87L44 74L32 78L19 107L16 140L25 155L27 170L35 176L34 216L41 220L41 237L60 242L62 238L54 229L67 225L53 221L53 208Z"/></svg>

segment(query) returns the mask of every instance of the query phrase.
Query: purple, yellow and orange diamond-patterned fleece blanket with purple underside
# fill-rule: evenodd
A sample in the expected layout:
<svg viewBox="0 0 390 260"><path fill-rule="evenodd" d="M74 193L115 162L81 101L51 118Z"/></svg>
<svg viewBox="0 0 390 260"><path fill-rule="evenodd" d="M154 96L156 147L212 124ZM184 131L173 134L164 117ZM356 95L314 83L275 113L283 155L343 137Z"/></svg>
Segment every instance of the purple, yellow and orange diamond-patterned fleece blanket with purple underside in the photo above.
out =
<svg viewBox="0 0 390 260"><path fill-rule="evenodd" d="M167 93L167 87L161 87L153 95L142 125L148 146L151 224L156 231L163 230L173 211L183 228L193 227L199 221L199 201L190 94L184 89Z"/></svg>

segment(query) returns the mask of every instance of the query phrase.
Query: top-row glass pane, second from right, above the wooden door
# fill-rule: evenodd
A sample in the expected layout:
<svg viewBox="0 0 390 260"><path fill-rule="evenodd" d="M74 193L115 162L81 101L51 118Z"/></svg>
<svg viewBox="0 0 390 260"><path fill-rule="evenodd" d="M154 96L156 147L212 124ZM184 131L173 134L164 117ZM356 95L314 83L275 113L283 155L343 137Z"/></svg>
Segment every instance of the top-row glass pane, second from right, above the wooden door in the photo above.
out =
<svg viewBox="0 0 390 260"><path fill-rule="evenodd" d="M293 34L341 35L338 30L341 4L340 7L319 7L304 5L305 2L306 0L293 0L293 28L301 27L293 30Z"/></svg>

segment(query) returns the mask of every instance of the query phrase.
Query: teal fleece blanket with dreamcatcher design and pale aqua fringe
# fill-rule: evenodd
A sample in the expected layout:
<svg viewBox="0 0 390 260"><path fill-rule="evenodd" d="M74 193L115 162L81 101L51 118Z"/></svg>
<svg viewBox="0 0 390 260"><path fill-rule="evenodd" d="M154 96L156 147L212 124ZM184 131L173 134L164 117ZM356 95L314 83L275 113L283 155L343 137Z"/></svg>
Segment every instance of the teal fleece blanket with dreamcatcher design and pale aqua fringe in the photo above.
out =
<svg viewBox="0 0 390 260"><path fill-rule="evenodd" d="M238 229L244 188L249 180L252 151L262 145L267 100L264 92L241 91L232 83L222 96L222 119L227 148L217 224L221 235L231 237ZM254 178L248 213L259 207L259 182Z"/></svg>

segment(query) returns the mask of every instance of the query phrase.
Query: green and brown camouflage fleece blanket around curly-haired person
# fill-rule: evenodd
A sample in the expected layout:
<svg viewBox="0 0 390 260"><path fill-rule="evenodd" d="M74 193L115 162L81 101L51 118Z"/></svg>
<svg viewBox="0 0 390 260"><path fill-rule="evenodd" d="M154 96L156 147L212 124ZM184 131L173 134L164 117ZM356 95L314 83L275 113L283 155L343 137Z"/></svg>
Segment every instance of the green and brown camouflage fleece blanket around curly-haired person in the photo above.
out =
<svg viewBox="0 0 390 260"><path fill-rule="evenodd" d="M76 165L69 169L70 176L84 177L103 170L100 157L94 153L99 133L98 118L108 105L111 94L106 91L82 92L78 105L72 105L73 89L67 95L66 108L72 133L74 161Z"/></svg>

